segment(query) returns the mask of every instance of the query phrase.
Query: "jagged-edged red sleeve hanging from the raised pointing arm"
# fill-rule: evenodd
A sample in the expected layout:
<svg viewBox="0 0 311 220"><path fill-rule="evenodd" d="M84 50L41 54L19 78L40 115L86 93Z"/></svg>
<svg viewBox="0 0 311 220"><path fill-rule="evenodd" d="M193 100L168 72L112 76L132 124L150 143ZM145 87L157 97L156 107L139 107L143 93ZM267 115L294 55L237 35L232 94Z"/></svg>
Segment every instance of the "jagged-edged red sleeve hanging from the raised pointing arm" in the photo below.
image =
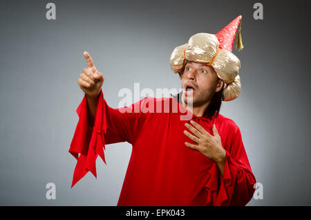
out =
<svg viewBox="0 0 311 220"><path fill-rule="evenodd" d="M70 154L77 159L71 187L83 178L88 171L95 177L97 176L95 161L97 156L100 155L104 163L106 163L104 157L105 145L124 141L132 143L133 138L135 138L135 127L137 127L135 125L138 123L140 114L133 113L133 111L129 113L129 110L133 109L134 105L137 104L140 104L140 102L136 102L130 107L113 109L106 104L104 95L100 91L95 122L94 126L91 127L88 122L88 103L84 94L82 102L77 107L79 122L69 149ZM121 113L121 111L125 111L125 113Z"/></svg>

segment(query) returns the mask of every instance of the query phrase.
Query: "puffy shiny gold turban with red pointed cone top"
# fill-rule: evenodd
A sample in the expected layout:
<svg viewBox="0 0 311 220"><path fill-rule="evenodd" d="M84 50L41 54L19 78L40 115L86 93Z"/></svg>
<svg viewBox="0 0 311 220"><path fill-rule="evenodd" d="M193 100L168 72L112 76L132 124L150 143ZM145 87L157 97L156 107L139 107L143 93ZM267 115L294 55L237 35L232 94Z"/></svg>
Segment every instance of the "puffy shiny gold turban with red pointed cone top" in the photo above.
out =
<svg viewBox="0 0 311 220"><path fill-rule="evenodd" d="M220 30L217 35L197 33L190 37L187 44L177 46L171 53L170 64L173 73L181 71L185 59L209 65L226 83L223 101L237 98L241 93L241 81L238 75L241 63L231 51L240 21L241 15Z"/></svg>

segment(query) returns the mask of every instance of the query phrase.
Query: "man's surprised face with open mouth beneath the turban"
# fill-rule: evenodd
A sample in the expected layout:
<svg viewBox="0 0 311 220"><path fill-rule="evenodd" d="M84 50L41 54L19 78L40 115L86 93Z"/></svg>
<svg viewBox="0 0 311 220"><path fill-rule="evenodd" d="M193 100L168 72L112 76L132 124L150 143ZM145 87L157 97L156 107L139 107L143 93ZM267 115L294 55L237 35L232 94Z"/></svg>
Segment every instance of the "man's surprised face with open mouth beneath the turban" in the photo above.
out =
<svg viewBox="0 0 311 220"><path fill-rule="evenodd" d="M213 68L190 61L187 61L184 72L180 74L180 80L182 89L185 89L183 98L187 104L192 102L193 107L206 104L223 86L223 80L218 78Z"/></svg>

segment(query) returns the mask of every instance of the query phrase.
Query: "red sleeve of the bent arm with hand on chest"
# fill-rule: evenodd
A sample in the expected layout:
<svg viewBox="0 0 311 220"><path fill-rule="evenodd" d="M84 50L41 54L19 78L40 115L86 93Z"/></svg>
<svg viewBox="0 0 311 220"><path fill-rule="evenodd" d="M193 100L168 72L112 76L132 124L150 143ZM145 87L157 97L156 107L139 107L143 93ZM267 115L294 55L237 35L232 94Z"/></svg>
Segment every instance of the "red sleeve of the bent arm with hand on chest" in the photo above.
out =
<svg viewBox="0 0 311 220"><path fill-rule="evenodd" d="M210 177L205 187L211 193L207 204L246 205L254 194L256 179L247 159L241 131L237 126L233 132L231 148L226 149L226 154L223 175L216 163L209 170Z"/></svg>

